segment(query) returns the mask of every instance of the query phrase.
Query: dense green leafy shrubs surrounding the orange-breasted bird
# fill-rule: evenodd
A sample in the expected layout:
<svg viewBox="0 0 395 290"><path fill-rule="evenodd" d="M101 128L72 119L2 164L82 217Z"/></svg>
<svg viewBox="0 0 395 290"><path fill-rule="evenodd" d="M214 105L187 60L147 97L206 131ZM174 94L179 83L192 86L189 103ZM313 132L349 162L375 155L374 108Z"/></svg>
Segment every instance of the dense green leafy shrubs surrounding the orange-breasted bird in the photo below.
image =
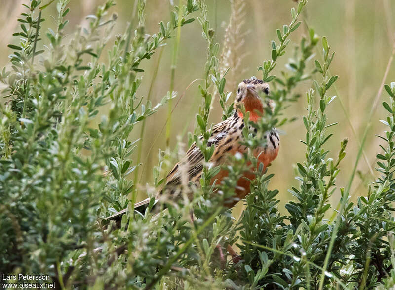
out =
<svg viewBox="0 0 395 290"><path fill-rule="evenodd" d="M52 1L25 5L18 19L20 30L14 33L20 42L8 45L13 50L10 66L0 73L5 85L5 103L0 105L1 273L50 275L46 282L63 289L395 285L395 83L385 86L390 98L383 107L389 116L382 120L388 129L380 136L385 145L377 155L379 176L354 205L349 186L338 188L335 183L347 140L340 142L335 157L325 149L330 127L337 124L329 123L332 117L326 109L335 99L329 92L338 78L329 73L334 53L327 39L320 41L310 28L295 45L286 70L278 72L280 76L271 74L278 58L289 50L289 36L301 25L298 18L307 0L292 8L290 24L278 29L278 40L271 42L272 59L258 69L271 84L276 107L267 109L258 123L248 122L248 113L244 114L242 143L249 153L234 156L222 184L210 185L220 168L207 163L193 200L169 204L156 217L149 210L144 215L133 211L137 186L131 173L139 164L131 159L137 140L130 140L130 135L136 123L177 94L163 92L158 105L143 104L138 92L144 75L141 63L170 38L177 41L176 32L197 18L207 42L207 62L199 86L202 103L196 134L190 134L189 141L195 141L209 161L214 149L207 147L213 95L219 96L224 118L233 113L233 104L225 90L228 68L221 67L207 6L204 0L181 1L185 4L174 6L170 21L147 35L145 0L138 0L135 19L108 48L117 20L108 13L115 3L108 0L98 7L88 17L89 26L76 29L69 38L64 33L68 1L56 1L56 25L47 32L40 26L45 21L41 11ZM41 42L45 50L39 49ZM322 60L313 63L316 47ZM175 54L176 49L177 45ZM303 99L295 88L307 80L312 88ZM295 199L285 206L288 214L279 213L278 191L268 186L273 173L259 167L246 210L235 220L222 206L224 200L232 197L248 164L257 163L250 152L265 144L265 133L294 121L285 118L283 110L300 99L307 102L300 120L306 130L302 141L306 159L297 164L299 186L290 188ZM108 108L105 114L103 106ZM161 159L153 169L155 188L164 181L164 162ZM155 188L147 189L148 194L154 195ZM341 200L331 206L329 199L337 191ZM126 207L130 214L114 230L114 223L105 217ZM240 257L223 257L228 245L237 245Z"/></svg>

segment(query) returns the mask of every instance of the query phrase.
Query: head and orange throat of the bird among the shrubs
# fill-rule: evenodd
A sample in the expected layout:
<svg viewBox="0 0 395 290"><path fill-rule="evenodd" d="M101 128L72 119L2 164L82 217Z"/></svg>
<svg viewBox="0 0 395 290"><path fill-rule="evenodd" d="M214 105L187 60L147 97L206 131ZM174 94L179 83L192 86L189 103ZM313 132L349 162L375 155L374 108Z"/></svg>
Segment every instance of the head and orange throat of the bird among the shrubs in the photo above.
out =
<svg viewBox="0 0 395 290"><path fill-rule="evenodd" d="M263 114L264 103L261 96L269 95L269 84L263 80L251 76L250 79L244 79L238 85L235 109L237 114L242 117L242 112L237 108L240 103L244 105L246 111L250 112L249 119L256 122ZM265 100L267 106L273 109L273 101Z"/></svg>

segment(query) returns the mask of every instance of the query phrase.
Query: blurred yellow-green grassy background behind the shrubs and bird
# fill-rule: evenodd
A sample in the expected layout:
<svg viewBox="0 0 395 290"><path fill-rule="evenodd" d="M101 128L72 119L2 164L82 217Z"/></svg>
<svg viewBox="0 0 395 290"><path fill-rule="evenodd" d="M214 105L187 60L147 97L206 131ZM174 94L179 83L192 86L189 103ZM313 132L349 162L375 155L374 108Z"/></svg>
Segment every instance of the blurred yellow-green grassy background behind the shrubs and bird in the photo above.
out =
<svg viewBox="0 0 395 290"><path fill-rule="evenodd" d="M18 41L16 37L12 38L12 32L15 30L17 16L23 12L21 6L22 0L1 0L2 9L0 11L0 65L8 65L8 55L10 49L6 47L8 43ZM84 16L92 14L95 7L103 1L71 0L71 12L68 15L70 23L68 30L71 32L76 25L86 25L87 21ZM114 30L114 36L123 33L127 22L130 21L132 10L132 0L117 0L117 5L113 11L118 14L117 25ZM174 0L178 3L178 0ZM222 44L226 25L230 16L229 0L207 0L209 5L209 18L211 25L216 27L217 41ZM251 75L257 77L261 73L257 71L263 60L270 59L271 45L270 41L276 38L276 29L283 24L289 24L291 20L290 9L295 5L292 0L246 0L245 1L245 23L243 24L243 37L245 43L241 48L242 55L245 56L242 62L244 73L239 75L238 79L249 78ZM147 0L147 33L156 33L159 29L158 22L169 19L171 3L168 0ZM56 15L54 5L44 10L44 28L52 25L49 14ZM197 14L195 14L197 15ZM384 72L389 62L394 43L394 21L395 3L390 0L310 0L305 13L304 20L309 26L313 27L320 36L326 36L336 56L331 66L331 73L338 74L339 80L336 82L337 93L335 88L330 89L330 93L338 95L338 98L332 103L328 110L329 123L339 122L339 125L331 127L334 136L327 143L327 148L331 150L330 156L336 157L340 140L344 137L350 139L347 156L341 164L342 172L338 175L337 185L344 187L347 184L352 167L356 160L358 151L358 140L362 139L363 131L368 122L368 115L372 109L374 99L380 88ZM293 42L289 48L299 41L300 36L306 34L306 27L301 26L293 36ZM45 37L43 37L45 38ZM174 39L163 47L163 56L160 60L158 77L152 90L152 101L156 104L169 90L170 86L170 62L172 46ZM45 40L44 40L45 41ZM40 45L42 45L41 43ZM279 74L283 69L283 63L288 57L292 56L292 49L288 49L285 58L280 61L274 74ZM104 56L105 57L105 56ZM316 59L320 60L321 52L316 51ZM158 61L158 53L153 57L153 61L143 64L146 73L143 83L139 89L140 96L147 96L155 65ZM178 97L186 90L187 86L195 79L201 78L203 74L204 63L206 61L206 44L201 36L201 28L197 21L186 25L181 30L181 42L176 68L175 90L178 91ZM395 81L395 65L392 64L389 69L386 83ZM177 144L177 136L181 136L184 129L193 131L195 125L195 114L200 103L200 95L195 82L186 91L182 100L175 108L171 121L171 142L170 149L173 150ZM303 97L305 92L311 86L311 81L307 81L298 90ZM235 91L236 87L227 88ZM177 97L177 99L178 99ZM231 97L234 98L234 95ZM343 111L340 99L344 103ZM379 151L380 139L375 134L381 134L384 125L379 122L386 116L386 112L381 107L381 102L387 100L385 93L380 96L380 102L377 110L373 115L373 126L368 132L365 152L371 167L375 167L376 153ZM173 105L176 101L173 101ZM280 151L273 166L269 171L276 175L272 180L271 187L278 188L281 200L280 210L285 213L283 205L292 196L287 190L291 186L296 186L295 163L304 160L304 145L299 141L304 137L304 126L301 116L305 113L305 98L301 98L296 104L287 109L286 115L289 117L296 116L298 120L294 123L287 124L281 128L285 134L281 136ZM158 163L158 150L165 149L165 130L161 131L166 121L167 109L161 109L154 117L149 118L146 126L142 148L142 162L145 163L144 170L140 169L142 176L140 184L152 181L152 167ZM221 121L221 109L216 100L214 108L211 111L211 121L217 123ZM352 133L349 122L355 129L356 136ZM140 128L134 130L135 138L138 138ZM156 139L156 137L158 138ZM186 143L186 135L181 136L181 140ZM154 143L155 141L155 143ZM152 150L149 152L151 145ZM353 182L351 193L353 199L358 195L366 194L366 182L373 180L369 173L369 166L362 157L357 166L361 175ZM367 175L365 175L368 173ZM374 170L374 174L377 172ZM141 194L141 197L143 197ZM332 197L333 204L337 204L339 192Z"/></svg>

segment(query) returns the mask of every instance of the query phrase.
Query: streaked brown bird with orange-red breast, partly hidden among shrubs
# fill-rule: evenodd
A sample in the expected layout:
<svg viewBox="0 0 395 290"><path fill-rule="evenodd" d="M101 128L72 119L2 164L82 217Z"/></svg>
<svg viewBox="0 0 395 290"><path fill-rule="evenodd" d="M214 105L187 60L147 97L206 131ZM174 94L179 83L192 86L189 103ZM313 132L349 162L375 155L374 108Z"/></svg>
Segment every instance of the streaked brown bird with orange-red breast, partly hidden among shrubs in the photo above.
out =
<svg viewBox="0 0 395 290"><path fill-rule="evenodd" d="M273 101L270 99L262 100L260 95L269 95L268 83L255 78L244 79L238 85L236 100L235 100L235 113L227 118L225 121L216 124L212 128L211 136L207 142L207 147L214 145L214 153L210 159L213 166L220 166L227 161L229 155L234 155L237 152L244 153L247 148L240 144L243 138L242 129L244 127L243 113L240 110L240 103L244 105L245 111L249 111L249 120L257 122L264 114L265 105L273 109ZM200 136L200 139L202 136ZM264 147L257 147L254 149L253 154L258 159L258 166L263 163L266 168L276 157L279 149L279 136L276 130L267 133L267 142ZM185 156L173 167L169 172L164 182L164 186L159 191L159 194L167 193L170 199L177 200L181 197L183 184L199 185L202 169L204 165L204 157L196 143L193 143L188 149ZM228 175L226 169L221 169L220 172L211 180L211 184L215 181L216 184ZM183 179L187 179L187 182ZM245 172L243 177L237 181L236 198L226 204L228 207L234 206L238 200L243 199L250 193L250 180L253 180L255 175L251 172ZM187 190L189 195L192 190ZM191 196L190 196L191 197ZM148 206L150 199L147 198L135 204L135 210L143 213ZM127 211L124 209L110 217L108 220L120 221L122 215Z"/></svg>

